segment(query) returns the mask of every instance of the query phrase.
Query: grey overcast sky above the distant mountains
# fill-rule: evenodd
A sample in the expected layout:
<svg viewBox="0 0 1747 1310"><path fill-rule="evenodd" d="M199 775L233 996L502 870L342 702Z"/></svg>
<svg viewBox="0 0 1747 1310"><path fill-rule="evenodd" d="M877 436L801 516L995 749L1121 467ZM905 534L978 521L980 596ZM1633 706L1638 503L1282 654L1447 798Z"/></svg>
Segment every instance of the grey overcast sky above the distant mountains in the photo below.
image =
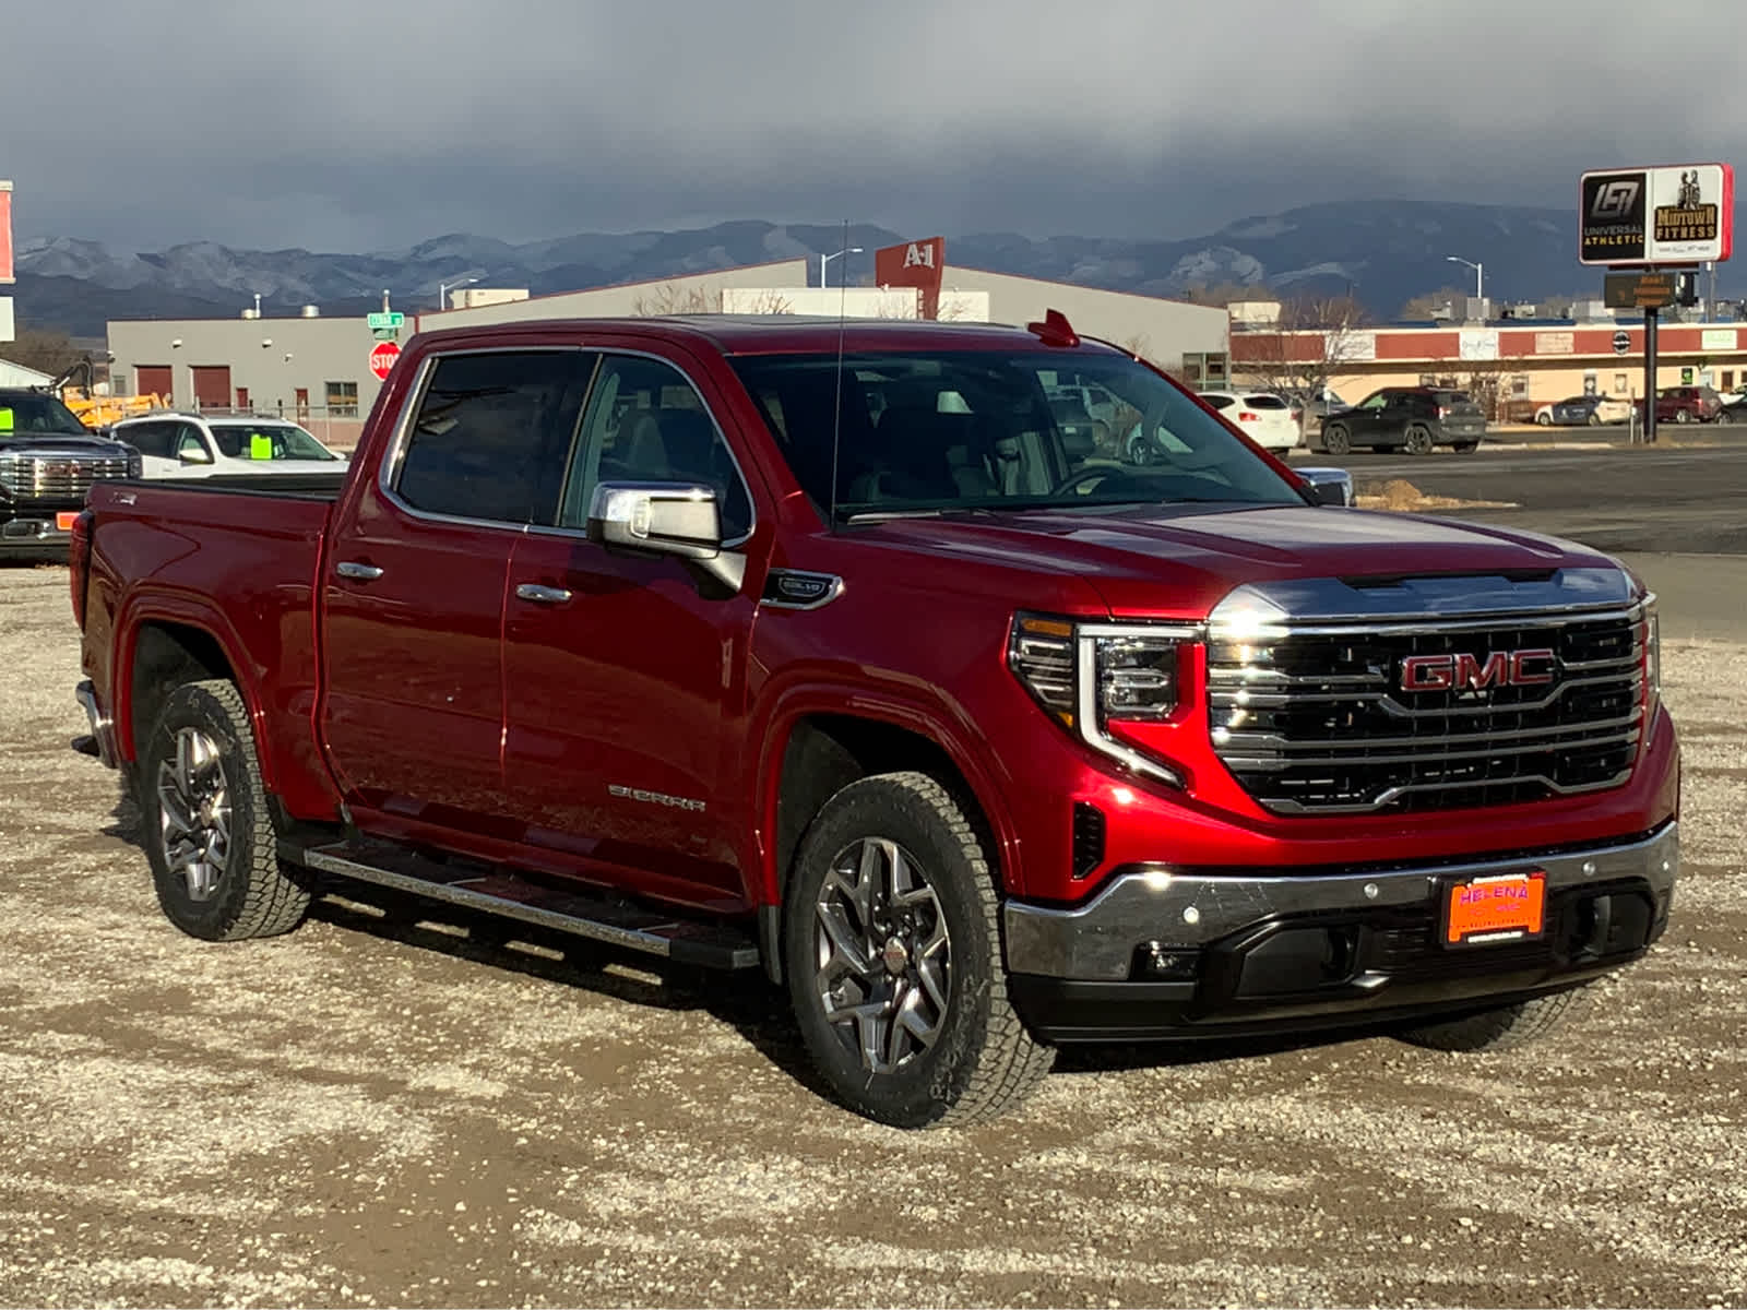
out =
<svg viewBox="0 0 1747 1310"><path fill-rule="evenodd" d="M0 0L19 238L1188 238L1747 164L1747 0ZM1747 182L1747 178L1744 178Z"/></svg>

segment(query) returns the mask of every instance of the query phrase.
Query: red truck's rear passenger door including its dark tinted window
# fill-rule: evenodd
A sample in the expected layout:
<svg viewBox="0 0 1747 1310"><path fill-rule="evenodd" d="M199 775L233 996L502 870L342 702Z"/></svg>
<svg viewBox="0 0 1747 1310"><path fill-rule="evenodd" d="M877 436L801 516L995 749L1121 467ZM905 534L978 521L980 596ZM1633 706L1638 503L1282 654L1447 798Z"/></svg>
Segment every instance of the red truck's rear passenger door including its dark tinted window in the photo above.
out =
<svg viewBox="0 0 1747 1310"><path fill-rule="evenodd" d="M508 564L529 522L556 519L590 370L575 349L437 356L386 465L391 489L372 479L337 512L321 580L323 737L377 828L393 816L505 835Z"/></svg>

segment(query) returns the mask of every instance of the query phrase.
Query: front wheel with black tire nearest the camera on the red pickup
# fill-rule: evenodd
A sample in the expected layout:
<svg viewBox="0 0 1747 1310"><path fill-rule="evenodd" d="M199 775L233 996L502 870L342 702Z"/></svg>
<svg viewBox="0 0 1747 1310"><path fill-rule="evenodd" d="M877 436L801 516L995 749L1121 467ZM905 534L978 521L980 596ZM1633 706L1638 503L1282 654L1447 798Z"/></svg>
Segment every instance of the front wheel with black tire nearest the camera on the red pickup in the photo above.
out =
<svg viewBox="0 0 1747 1310"><path fill-rule="evenodd" d="M858 898L861 884L874 893ZM891 896L900 884L912 887L907 908ZM928 896L919 898L917 884ZM887 945L875 954L882 936ZM935 971L924 978L929 955ZM783 971L814 1065L839 1100L870 1120L898 1128L984 1123L1024 1100L1055 1062L1008 1001L1001 903L982 842L926 774L860 779L814 817L788 887ZM826 989L842 1010L884 1010L832 1020ZM931 1038L908 1031L898 1013L929 1025Z"/></svg>

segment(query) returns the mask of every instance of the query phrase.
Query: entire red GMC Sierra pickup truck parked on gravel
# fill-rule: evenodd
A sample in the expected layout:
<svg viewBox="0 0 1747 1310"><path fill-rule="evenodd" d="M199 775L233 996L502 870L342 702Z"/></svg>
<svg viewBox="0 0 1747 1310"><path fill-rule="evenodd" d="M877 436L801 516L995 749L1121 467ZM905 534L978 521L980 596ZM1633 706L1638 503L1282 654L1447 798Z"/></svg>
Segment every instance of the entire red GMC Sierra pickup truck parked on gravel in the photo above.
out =
<svg viewBox="0 0 1747 1310"><path fill-rule="evenodd" d="M91 493L84 744L194 936L381 884L762 968L886 1123L1071 1041L1522 1041L1667 924L1654 601L1322 501L1059 314L433 332L332 489Z"/></svg>

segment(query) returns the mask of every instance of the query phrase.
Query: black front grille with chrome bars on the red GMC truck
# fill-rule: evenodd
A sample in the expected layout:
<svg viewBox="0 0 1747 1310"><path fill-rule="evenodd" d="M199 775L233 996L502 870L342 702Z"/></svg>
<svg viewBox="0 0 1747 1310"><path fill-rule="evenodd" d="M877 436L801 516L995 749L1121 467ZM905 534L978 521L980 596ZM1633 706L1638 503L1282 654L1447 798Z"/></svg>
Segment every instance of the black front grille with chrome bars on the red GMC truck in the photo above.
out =
<svg viewBox="0 0 1747 1310"><path fill-rule="evenodd" d="M1497 624L1315 627L1207 646L1214 751L1277 814L1497 805L1618 786L1644 727L1639 610ZM1551 650L1543 685L1495 655ZM1469 678L1405 690L1403 662ZM1422 662L1424 664L1424 662Z"/></svg>

